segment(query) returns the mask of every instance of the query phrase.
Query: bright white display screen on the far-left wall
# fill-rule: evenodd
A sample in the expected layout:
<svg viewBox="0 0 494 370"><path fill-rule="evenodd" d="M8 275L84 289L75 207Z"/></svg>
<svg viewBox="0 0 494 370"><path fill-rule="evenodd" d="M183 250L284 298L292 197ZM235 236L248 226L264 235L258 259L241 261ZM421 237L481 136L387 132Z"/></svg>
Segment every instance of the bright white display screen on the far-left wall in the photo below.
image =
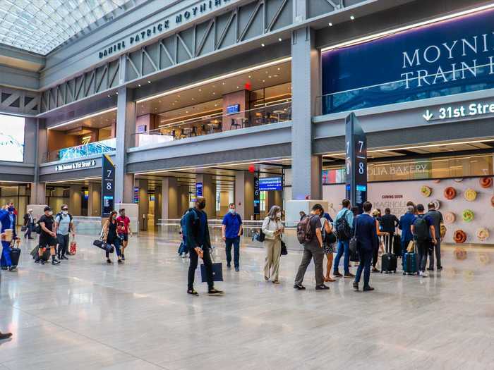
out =
<svg viewBox="0 0 494 370"><path fill-rule="evenodd" d="M0 161L24 161L25 118L0 114Z"/></svg>

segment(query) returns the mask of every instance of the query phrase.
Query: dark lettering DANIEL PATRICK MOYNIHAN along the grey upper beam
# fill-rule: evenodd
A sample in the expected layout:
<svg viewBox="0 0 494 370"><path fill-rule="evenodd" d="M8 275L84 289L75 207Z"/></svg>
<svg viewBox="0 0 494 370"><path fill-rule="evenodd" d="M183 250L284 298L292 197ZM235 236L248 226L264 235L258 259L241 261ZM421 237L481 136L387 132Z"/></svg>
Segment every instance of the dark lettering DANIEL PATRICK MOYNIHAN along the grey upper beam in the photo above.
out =
<svg viewBox="0 0 494 370"><path fill-rule="evenodd" d="M198 18L200 16L205 16L213 11L224 8L229 5L231 0L207 0L200 1L199 3L189 6L171 16L167 16L157 21L156 23L141 29L138 32L128 35L119 42L116 42L105 49L98 52L98 57L100 59L107 58L113 54L118 54L121 51L135 47L153 37L164 34L170 30L174 30L176 27L187 23L190 20Z"/></svg>

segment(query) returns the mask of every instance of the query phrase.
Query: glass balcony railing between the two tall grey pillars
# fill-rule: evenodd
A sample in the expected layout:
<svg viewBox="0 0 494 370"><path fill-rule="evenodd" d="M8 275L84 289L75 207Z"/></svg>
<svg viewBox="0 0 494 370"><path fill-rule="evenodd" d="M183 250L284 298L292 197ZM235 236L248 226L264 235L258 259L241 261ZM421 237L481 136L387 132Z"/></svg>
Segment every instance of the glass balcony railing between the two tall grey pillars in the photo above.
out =
<svg viewBox="0 0 494 370"><path fill-rule="evenodd" d="M164 124L155 130L135 133L135 147L284 121L291 121L291 101L222 116L212 115Z"/></svg>

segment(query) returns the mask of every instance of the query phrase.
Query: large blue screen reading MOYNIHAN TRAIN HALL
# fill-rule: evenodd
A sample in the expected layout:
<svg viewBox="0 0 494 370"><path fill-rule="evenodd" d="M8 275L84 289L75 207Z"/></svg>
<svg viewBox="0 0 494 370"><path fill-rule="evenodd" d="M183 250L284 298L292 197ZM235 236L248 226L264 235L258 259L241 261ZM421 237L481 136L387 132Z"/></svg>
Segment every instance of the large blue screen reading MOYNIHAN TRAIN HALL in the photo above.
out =
<svg viewBox="0 0 494 370"><path fill-rule="evenodd" d="M493 24L483 11L324 52L323 113L493 88Z"/></svg>

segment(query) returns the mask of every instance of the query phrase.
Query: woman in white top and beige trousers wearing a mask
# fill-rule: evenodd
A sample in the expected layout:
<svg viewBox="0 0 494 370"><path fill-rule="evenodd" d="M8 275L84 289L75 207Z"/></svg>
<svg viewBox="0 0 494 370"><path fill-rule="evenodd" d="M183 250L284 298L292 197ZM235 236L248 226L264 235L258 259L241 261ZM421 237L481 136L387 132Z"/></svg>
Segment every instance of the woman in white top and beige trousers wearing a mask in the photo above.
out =
<svg viewBox="0 0 494 370"><path fill-rule="evenodd" d="M279 259L282 253L282 234L284 231L282 224L282 209L279 206L272 206L262 226L265 235L264 246L266 249L266 259L264 264L264 280L270 280L274 284L279 284Z"/></svg>

